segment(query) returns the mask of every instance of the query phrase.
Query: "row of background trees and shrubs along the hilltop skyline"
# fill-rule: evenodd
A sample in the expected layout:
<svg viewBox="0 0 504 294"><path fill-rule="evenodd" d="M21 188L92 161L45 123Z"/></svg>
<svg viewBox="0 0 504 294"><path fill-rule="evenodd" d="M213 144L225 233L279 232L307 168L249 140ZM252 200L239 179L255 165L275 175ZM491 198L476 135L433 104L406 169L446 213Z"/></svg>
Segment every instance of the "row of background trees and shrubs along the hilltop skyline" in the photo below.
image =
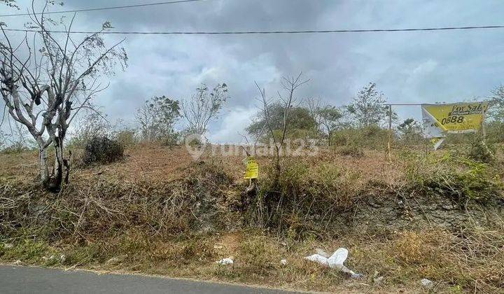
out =
<svg viewBox="0 0 504 294"><path fill-rule="evenodd" d="M97 109L83 111L78 127L71 130L69 146L83 148L93 137L110 137L125 147L141 142L173 146L181 144L186 134L204 135L209 123L216 120L230 98L228 85L213 88L201 85L186 99L173 99L165 95L152 97L137 109L136 127L125 127L123 121L113 124L106 114ZM486 134L490 143L504 142L504 86L496 87L487 98L492 104L486 120ZM302 99L288 107L287 139L316 139L323 146L351 146L360 148L384 148L388 140L388 107L384 94L377 85L369 83L356 93L344 106L325 104L321 99ZM283 131L286 106L272 102L268 106L268 118L274 135ZM400 146L418 146L423 139L421 123L413 118L398 120L392 113L393 136ZM9 132L0 132L0 150L15 153L35 148L36 142L22 125L11 122ZM265 131L266 114L258 111L246 132L257 141L268 143L272 134ZM453 136L454 144L467 143L471 135Z"/></svg>

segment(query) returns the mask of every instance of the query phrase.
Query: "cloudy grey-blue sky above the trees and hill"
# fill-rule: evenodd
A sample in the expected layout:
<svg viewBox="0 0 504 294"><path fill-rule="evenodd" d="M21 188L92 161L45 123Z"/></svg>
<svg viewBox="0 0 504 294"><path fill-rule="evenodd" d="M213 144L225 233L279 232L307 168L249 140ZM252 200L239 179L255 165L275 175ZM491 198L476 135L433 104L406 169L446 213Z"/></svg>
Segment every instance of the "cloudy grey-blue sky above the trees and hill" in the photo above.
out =
<svg viewBox="0 0 504 294"><path fill-rule="evenodd" d="M50 10L150 3L144 0L69 0ZM155 2L155 1L152 1ZM18 1L22 11L31 1ZM0 5L0 14L18 13ZM504 1L206 0L78 13L74 30L254 31L395 29L504 25ZM71 16L71 15L69 15ZM24 17L2 18L22 28ZM17 33L13 33L17 34ZM120 36L107 36L112 44ZM484 99L504 83L504 29L288 35L126 36L129 66L109 78L94 100L110 120L134 126L146 99L189 97L201 83L226 83L230 99L208 137L237 142L258 111L254 81L276 97L281 77L302 71L309 83L299 100L317 97L342 106L367 83L390 103ZM421 118L419 106L398 106L401 119Z"/></svg>

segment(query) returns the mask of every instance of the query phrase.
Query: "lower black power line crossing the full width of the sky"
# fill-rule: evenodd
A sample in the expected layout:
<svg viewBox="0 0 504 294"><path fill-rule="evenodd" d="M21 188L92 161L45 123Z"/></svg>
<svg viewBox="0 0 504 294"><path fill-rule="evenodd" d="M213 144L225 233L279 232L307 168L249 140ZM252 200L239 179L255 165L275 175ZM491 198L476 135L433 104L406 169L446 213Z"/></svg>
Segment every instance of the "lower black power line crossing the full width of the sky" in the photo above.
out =
<svg viewBox="0 0 504 294"><path fill-rule="evenodd" d="M309 31L103 31L102 34L124 35L244 35L244 34L328 34L328 33L370 33L387 31L454 31L468 29L503 29L504 25L477 27L426 27L416 29L327 29ZM37 29L3 29L4 31L37 32ZM66 34L67 31L48 31ZM95 34L96 31L70 31L70 34Z"/></svg>

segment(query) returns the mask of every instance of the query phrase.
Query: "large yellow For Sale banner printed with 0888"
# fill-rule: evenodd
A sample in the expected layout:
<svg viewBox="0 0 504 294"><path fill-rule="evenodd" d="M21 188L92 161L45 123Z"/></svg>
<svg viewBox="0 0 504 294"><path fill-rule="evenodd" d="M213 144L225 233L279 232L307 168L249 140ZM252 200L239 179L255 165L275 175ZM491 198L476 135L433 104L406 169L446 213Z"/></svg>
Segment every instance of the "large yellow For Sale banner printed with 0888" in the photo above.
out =
<svg viewBox="0 0 504 294"><path fill-rule="evenodd" d="M489 102L423 104L437 127L448 133L476 132L482 126Z"/></svg>

